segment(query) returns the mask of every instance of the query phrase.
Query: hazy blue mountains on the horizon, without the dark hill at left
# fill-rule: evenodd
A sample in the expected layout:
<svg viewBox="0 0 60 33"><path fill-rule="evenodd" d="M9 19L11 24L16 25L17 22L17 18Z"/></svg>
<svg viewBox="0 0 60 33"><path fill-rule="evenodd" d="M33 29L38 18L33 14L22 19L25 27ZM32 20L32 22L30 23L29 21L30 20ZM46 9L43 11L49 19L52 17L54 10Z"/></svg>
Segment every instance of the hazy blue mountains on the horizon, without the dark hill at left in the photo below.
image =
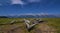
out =
<svg viewBox="0 0 60 33"><path fill-rule="evenodd" d="M59 18L55 15L20 15L20 16L13 16L13 18Z"/></svg>

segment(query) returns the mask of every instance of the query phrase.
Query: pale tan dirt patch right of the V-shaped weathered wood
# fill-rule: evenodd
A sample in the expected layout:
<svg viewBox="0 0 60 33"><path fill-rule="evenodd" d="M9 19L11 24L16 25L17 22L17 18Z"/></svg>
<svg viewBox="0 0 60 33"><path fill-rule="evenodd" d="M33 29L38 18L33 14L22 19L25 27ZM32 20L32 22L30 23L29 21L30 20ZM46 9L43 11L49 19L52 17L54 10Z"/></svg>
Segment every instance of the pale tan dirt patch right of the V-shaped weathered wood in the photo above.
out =
<svg viewBox="0 0 60 33"><path fill-rule="evenodd" d="M48 26L46 23L40 23L35 33L56 33L53 27Z"/></svg>

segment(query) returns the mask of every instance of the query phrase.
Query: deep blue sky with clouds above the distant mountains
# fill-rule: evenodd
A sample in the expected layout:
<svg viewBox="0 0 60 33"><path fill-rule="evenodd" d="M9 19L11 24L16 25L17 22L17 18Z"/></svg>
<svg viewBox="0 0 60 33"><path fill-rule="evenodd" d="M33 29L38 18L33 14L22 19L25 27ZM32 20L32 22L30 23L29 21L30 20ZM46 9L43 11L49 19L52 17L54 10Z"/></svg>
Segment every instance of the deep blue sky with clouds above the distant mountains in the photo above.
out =
<svg viewBox="0 0 60 33"><path fill-rule="evenodd" d="M0 15L60 14L60 0L0 0Z"/></svg>

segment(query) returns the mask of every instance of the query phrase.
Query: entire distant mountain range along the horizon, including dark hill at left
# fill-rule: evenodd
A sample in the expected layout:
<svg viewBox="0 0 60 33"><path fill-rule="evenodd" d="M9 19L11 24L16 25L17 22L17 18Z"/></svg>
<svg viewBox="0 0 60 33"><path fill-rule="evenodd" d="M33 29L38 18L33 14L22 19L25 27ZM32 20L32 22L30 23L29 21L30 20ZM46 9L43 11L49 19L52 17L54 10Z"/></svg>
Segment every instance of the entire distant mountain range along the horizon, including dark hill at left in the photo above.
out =
<svg viewBox="0 0 60 33"><path fill-rule="evenodd" d="M1 18L60 18L57 15L15 15L15 16L0 16Z"/></svg>

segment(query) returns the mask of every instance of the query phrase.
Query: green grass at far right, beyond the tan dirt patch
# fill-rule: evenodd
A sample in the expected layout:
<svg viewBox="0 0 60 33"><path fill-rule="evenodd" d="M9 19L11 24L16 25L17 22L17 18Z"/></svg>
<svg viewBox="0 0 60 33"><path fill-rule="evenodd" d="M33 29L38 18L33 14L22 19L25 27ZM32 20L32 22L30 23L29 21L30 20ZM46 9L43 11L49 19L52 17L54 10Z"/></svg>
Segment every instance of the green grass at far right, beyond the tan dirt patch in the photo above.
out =
<svg viewBox="0 0 60 33"><path fill-rule="evenodd" d="M49 26L52 26L56 29L57 33L60 33L60 18L43 18L47 21Z"/></svg>

